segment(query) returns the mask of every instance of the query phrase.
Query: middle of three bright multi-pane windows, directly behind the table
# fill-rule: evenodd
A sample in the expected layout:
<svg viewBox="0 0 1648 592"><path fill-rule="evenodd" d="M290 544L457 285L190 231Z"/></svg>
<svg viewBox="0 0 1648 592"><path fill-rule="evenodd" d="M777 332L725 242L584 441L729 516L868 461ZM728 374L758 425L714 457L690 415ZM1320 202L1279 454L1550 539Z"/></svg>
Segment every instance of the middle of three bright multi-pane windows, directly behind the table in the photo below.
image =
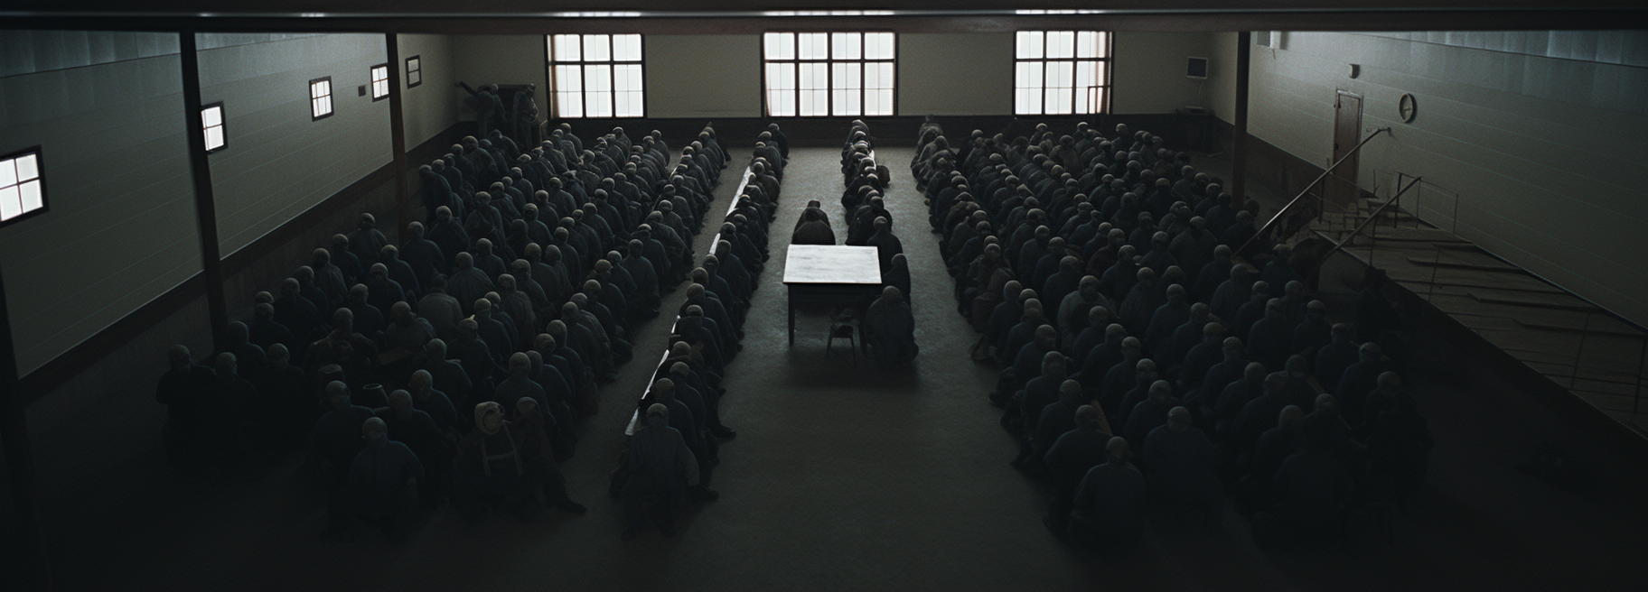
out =
<svg viewBox="0 0 1648 592"><path fill-rule="evenodd" d="M893 115L893 33L766 33L766 115Z"/></svg>

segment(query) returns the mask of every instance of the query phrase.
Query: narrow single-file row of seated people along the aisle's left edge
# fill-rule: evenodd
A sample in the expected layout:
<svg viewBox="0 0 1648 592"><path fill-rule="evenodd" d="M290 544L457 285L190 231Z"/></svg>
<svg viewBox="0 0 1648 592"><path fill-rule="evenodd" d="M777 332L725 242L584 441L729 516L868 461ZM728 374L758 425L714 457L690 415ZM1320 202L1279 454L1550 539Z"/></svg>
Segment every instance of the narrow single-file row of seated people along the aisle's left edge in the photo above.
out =
<svg viewBox="0 0 1648 592"><path fill-rule="evenodd" d="M743 349L743 322L770 257L766 230L776 215L788 158L788 140L775 123L755 145L714 252L692 270L694 284L613 472L611 495L623 502L625 541L639 536L648 515L664 536L674 536L676 515L689 500L719 498L709 482L720 464L720 442L738 436L720 421L720 400L727 395L722 377ZM751 265L745 268L742 261ZM717 273L723 268L733 273Z"/></svg>

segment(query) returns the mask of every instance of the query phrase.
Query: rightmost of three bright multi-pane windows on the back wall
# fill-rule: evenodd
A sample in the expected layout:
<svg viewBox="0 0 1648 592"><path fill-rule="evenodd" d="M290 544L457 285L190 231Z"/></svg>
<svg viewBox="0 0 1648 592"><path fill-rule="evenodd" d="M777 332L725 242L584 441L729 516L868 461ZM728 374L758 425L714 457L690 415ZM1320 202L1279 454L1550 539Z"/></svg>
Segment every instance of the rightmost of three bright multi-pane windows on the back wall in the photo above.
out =
<svg viewBox="0 0 1648 592"><path fill-rule="evenodd" d="M1109 95L1109 31L1018 31L1014 113L1104 113Z"/></svg>

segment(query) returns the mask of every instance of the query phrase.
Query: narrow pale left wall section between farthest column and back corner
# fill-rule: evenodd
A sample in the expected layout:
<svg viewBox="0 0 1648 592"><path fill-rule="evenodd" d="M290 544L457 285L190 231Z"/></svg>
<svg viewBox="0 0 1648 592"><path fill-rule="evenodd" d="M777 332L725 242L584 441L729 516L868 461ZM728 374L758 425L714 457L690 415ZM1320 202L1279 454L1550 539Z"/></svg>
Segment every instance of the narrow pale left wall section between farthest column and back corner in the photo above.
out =
<svg viewBox="0 0 1648 592"><path fill-rule="evenodd" d="M453 59L452 36L447 35L400 35L400 113L402 128L407 135L407 150L445 132L458 123L458 95L452 92ZM424 84L407 89L405 61L419 56ZM461 92L461 90L460 90Z"/></svg>

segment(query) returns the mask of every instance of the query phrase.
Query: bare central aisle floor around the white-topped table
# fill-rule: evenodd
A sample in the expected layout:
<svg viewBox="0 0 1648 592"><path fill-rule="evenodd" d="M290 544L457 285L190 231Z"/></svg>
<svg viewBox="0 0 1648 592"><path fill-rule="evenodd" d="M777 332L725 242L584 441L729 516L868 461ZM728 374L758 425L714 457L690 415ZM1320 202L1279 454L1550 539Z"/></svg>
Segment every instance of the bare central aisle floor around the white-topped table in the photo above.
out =
<svg viewBox="0 0 1648 592"><path fill-rule="evenodd" d="M737 589L1071 589L1081 557L1042 528L1043 493L1014 472L1010 441L984 398L994 368L967 358L972 331L908 174L910 148L880 150L895 171L885 196L911 273L921 355L872 368L826 355L829 319L799 312L786 345L781 283L789 232L808 199L844 238L839 151L798 148L771 230L771 260L727 368L722 418L738 439L722 449L720 502L682 528L702 564ZM672 572L669 585L702 582Z"/></svg>

